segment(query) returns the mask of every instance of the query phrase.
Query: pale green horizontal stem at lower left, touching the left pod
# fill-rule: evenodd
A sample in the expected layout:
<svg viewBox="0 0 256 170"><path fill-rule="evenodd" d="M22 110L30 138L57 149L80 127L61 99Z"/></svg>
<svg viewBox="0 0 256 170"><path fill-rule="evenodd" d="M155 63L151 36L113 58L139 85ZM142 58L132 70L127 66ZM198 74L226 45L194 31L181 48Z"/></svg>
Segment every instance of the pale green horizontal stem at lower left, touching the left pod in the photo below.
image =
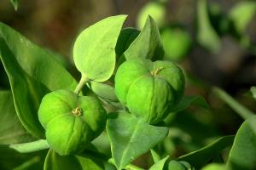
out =
<svg viewBox="0 0 256 170"><path fill-rule="evenodd" d="M29 153L33 151L49 149L49 144L47 140L40 139L40 140L23 143L23 144L10 144L9 148L17 150L20 153Z"/></svg>

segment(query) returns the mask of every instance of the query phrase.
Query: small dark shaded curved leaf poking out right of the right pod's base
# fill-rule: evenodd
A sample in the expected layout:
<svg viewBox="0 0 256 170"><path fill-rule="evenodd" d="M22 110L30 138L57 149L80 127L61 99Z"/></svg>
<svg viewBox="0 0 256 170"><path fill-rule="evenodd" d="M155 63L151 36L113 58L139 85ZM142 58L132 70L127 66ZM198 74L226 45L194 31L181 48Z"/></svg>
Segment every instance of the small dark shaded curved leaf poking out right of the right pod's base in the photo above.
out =
<svg viewBox="0 0 256 170"><path fill-rule="evenodd" d="M201 108L209 109L206 99L199 95L187 95L183 96L181 101L172 108L171 112L179 112L185 110L189 105L198 105Z"/></svg>

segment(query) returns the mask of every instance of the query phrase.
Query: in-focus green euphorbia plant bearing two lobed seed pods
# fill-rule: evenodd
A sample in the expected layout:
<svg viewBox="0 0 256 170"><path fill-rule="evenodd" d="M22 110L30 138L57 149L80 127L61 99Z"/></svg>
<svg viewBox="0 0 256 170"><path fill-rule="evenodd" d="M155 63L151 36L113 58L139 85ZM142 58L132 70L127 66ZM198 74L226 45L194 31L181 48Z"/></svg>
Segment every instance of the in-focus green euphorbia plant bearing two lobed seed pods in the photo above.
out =
<svg viewBox="0 0 256 170"><path fill-rule="evenodd" d="M154 163L148 168L166 170L204 167L215 156L212 153L232 144L233 136L223 137L176 160L154 150L167 137L172 115L193 102L205 108L207 104L199 96L183 95L183 71L162 60L164 50L154 20L149 16L138 31L122 29L125 18L111 16L80 33L73 48L79 83L54 59L55 54L0 24L0 57L9 77L14 112L22 123L15 125L22 135L29 132L18 142L7 140L4 149L35 152L45 158L44 169L135 170L142 168L132 161L150 150ZM93 94L88 95L89 89ZM114 109L109 110L110 106ZM252 122L253 118L247 121L238 135L244 135ZM111 156L92 143L105 129ZM231 150L230 167L240 142L237 139Z"/></svg>

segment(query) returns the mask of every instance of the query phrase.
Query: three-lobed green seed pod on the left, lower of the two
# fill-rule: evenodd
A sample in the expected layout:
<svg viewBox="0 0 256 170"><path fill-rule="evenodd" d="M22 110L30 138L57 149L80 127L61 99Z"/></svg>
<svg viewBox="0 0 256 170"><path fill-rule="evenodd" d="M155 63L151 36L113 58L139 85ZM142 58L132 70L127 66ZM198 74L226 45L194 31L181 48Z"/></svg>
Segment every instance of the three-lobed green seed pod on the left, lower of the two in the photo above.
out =
<svg viewBox="0 0 256 170"><path fill-rule="evenodd" d="M102 133L107 121L106 111L96 99L68 90L46 94L38 117L49 145L61 156L84 150Z"/></svg>

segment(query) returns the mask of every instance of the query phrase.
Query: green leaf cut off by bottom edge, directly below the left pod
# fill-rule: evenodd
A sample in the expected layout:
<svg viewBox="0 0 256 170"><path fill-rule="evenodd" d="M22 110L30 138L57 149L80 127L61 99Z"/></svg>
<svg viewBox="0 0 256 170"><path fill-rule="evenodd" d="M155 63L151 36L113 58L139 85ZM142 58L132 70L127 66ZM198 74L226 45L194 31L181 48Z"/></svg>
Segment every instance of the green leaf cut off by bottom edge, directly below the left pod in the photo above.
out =
<svg viewBox="0 0 256 170"><path fill-rule="evenodd" d="M44 170L114 170L114 167L97 157L79 155L79 156L60 156L54 150L49 150L45 161Z"/></svg>

